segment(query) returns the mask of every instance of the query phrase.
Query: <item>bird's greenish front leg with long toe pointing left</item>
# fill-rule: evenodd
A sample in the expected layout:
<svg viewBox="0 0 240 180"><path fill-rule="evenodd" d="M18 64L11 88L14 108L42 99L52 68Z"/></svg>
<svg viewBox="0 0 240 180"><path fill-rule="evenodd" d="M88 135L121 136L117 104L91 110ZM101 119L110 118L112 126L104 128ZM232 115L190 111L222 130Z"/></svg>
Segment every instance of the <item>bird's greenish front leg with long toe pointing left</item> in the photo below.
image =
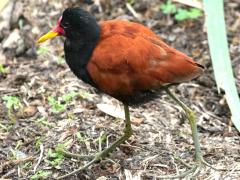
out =
<svg viewBox="0 0 240 180"><path fill-rule="evenodd" d="M118 140L116 140L111 146L109 146L108 148L104 149L103 151L97 153L94 158L92 159L92 161L90 161L89 163L85 164L83 167L80 167L79 169L72 171L66 175L60 176L56 179L64 179L66 177L69 177L71 175L77 174L80 171L87 169L89 166L91 166L92 164L100 161L102 158L105 158L108 154L110 154L111 152L113 152L119 145L121 145L122 143L124 143L128 138L131 137L131 135L133 134L132 131L132 127L131 127L131 121L130 121L130 113L129 113L129 107L128 105L124 104L124 112L125 112L125 129L124 129L124 134L121 138L119 138ZM67 154L70 157L73 157L71 153ZM76 157L74 155L74 157ZM81 156L82 157L82 156Z"/></svg>

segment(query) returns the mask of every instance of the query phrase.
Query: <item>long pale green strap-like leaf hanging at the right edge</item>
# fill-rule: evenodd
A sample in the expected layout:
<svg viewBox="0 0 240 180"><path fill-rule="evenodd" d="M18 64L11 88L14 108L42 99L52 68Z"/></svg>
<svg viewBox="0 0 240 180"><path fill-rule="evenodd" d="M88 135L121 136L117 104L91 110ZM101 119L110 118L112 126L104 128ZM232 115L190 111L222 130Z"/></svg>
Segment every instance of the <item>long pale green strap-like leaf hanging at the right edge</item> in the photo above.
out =
<svg viewBox="0 0 240 180"><path fill-rule="evenodd" d="M232 122L240 132L240 101L233 77L224 21L223 0L203 0L210 54L218 90L225 91Z"/></svg>

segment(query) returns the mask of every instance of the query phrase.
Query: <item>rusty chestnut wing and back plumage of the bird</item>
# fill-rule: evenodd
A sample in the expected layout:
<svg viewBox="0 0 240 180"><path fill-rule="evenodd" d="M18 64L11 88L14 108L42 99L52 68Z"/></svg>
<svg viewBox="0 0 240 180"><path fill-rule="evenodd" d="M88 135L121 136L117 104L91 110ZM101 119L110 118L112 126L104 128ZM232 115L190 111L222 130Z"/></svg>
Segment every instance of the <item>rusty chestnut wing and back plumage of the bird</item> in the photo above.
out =
<svg viewBox="0 0 240 180"><path fill-rule="evenodd" d="M114 33L97 44L87 69L104 92L131 95L200 73L191 58L167 46L153 32L136 34Z"/></svg>

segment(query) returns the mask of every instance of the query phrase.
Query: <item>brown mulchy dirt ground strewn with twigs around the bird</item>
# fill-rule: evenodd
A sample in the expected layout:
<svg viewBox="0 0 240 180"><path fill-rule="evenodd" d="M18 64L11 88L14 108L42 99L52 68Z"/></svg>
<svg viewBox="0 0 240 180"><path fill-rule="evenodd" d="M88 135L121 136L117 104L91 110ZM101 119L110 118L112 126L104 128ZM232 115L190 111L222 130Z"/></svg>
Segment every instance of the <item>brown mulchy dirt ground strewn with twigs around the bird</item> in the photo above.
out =
<svg viewBox="0 0 240 180"><path fill-rule="evenodd" d="M159 10L163 1L136 0L132 5L139 14L136 18L125 1L94 2L19 0L8 5L6 16L0 14L0 64L6 70L0 73L0 178L58 177L87 161L63 157L56 147L94 154L122 134L124 121L107 115L97 106L107 104L110 109L104 111L116 114L121 104L72 74L64 62L64 39L36 44L37 38L56 24L63 9L81 6L98 20L125 18L143 23L168 44L206 67L201 77L171 88L196 113L206 161L226 170L204 167L197 179L240 179L240 136L230 122L224 94L218 93L214 82L203 16L178 22ZM238 1L225 2L228 42L238 90L239 10ZM9 114L2 99L6 95L18 97L22 106ZM184 122L182 110L165 93L130 111L134 129L130 140L109 158L70 179L156 179L187 170L174 157L188 165L194 163L190 126Z"/></svg>

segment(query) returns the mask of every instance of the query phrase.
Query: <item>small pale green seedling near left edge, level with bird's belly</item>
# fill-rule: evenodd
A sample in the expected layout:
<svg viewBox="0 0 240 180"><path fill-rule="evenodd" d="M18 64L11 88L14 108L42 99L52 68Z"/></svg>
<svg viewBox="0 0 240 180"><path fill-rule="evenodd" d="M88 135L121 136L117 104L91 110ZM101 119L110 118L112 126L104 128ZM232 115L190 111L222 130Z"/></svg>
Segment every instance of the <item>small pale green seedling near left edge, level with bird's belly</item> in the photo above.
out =
<svg viewBox="0 0 240 180"><path fill-rule="evenodd" d="M23 105L21 101L16 96L3 96L2 100L6 103L9 119L15 121L14 111L17 111L18 115L22 114Z"/></svg>

